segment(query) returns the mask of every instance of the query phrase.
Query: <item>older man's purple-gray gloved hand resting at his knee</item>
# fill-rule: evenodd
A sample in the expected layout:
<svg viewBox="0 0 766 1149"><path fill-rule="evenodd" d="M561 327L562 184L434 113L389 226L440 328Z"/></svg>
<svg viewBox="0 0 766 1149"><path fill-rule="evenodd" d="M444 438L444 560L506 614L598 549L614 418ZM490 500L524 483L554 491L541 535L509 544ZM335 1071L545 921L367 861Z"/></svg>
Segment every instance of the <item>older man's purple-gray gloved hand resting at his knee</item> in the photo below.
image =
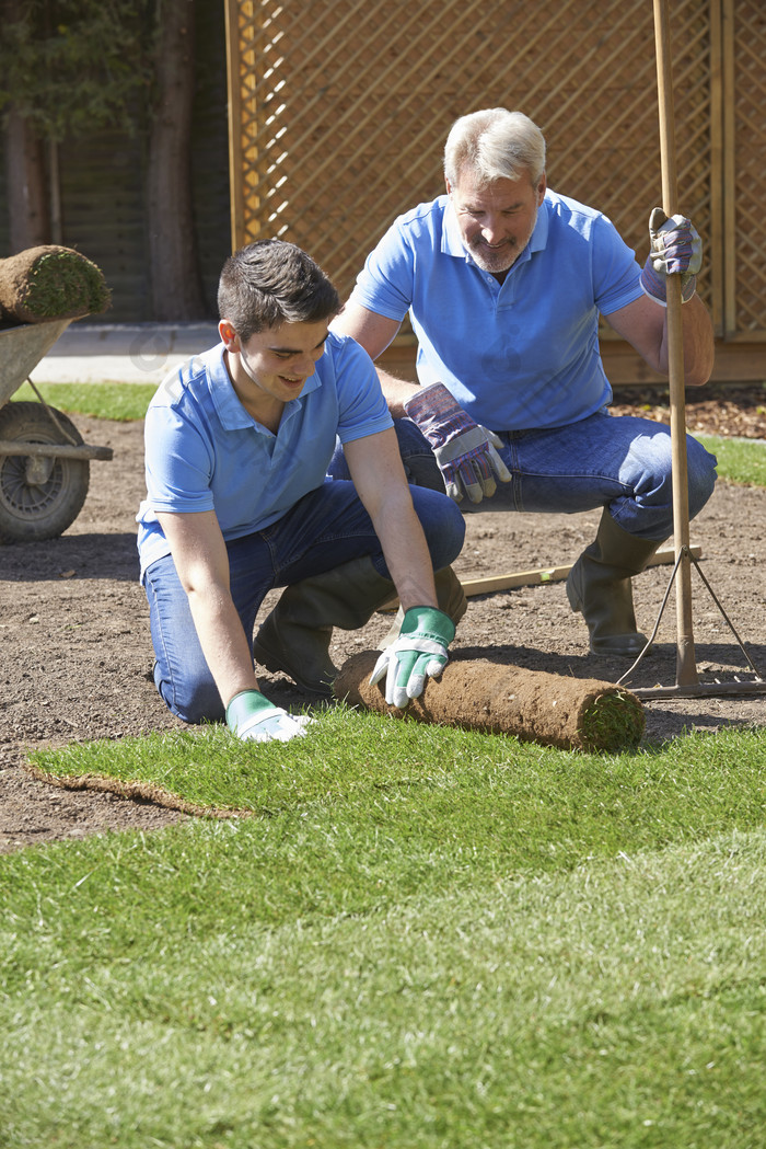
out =
<svg viewBox="0 0 766 1149"><path fill-rule="evenodd" d="M494 476L510 483L511 475L496 452L502 441L459 407L443 383L423 387L404 403L404 410L433 447L447 494L461 502L490 499L497 489Z"/></svg>

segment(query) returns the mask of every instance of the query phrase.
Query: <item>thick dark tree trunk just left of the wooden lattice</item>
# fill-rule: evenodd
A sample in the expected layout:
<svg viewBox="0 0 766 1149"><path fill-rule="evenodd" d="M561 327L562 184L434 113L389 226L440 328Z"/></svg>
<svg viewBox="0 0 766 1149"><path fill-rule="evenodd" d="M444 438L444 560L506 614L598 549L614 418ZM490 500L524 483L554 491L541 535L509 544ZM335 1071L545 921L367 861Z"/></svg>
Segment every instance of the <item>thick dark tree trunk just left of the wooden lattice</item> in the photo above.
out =
<svg viewBox="0 0 766 1149"><path fill-rule="evenodd" d="M158 5L157 100L149 136L147 210L153 317L206 317L192 207L194 2Z"/></svg>

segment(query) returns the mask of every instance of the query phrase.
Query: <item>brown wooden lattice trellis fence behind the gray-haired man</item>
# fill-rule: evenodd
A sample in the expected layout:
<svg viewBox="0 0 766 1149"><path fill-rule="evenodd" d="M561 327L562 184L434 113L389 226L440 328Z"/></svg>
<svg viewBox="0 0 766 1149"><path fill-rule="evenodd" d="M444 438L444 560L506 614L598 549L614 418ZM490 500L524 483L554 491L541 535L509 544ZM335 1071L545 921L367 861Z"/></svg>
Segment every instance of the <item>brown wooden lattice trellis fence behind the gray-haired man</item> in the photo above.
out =
<svg viewBox="0 0 766 1149"><path fill-rule="evenodd" d="M234 246L289 239L345 296L394 216L442 190L454 119L503 105L546 133L551 186L645 254L661 199L648 0L226 6ZM703 234L701 292L728 338L766 338L765 18L763 0L672 8L680 206Z"/></svg>

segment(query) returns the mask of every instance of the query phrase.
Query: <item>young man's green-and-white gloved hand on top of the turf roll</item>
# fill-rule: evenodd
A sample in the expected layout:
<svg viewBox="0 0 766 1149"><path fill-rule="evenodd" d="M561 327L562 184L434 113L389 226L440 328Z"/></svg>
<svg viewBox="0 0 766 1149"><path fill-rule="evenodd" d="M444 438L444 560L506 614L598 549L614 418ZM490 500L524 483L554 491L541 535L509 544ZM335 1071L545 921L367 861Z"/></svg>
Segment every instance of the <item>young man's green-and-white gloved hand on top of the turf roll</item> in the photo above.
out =
<svg viewBox="0 0 766 1149"><path fill-rule="evenodd" d="M410 607L399 638L378 658L370 676L374 686L386 676L386 702L403 709L423 693L426 678L438 678L447 665L447 647L455 623L435 607Z"/></svg>

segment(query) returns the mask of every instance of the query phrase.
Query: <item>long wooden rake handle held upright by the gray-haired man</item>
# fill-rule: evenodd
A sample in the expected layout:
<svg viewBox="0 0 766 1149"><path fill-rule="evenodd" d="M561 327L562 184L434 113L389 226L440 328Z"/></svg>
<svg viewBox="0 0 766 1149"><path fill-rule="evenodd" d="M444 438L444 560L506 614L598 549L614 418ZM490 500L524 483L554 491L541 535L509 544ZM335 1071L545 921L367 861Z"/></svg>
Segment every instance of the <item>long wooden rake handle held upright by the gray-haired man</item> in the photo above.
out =
<svg viewBox="0 0 766 1149"><path fill-rule="evenodd" d="M667 0L653 0L659 107L659 148L663 175L663 210L678 211L678 176L673 110L673 72ZM681 318L681 277L667 277L667 348L671 400L671 452L673 465L673 527L676 561L675 581L678 622L676 684L698 681L691 617L691 560L689 555L689 480L686 445L686 400L683 386L683 329Z"/></svg>

